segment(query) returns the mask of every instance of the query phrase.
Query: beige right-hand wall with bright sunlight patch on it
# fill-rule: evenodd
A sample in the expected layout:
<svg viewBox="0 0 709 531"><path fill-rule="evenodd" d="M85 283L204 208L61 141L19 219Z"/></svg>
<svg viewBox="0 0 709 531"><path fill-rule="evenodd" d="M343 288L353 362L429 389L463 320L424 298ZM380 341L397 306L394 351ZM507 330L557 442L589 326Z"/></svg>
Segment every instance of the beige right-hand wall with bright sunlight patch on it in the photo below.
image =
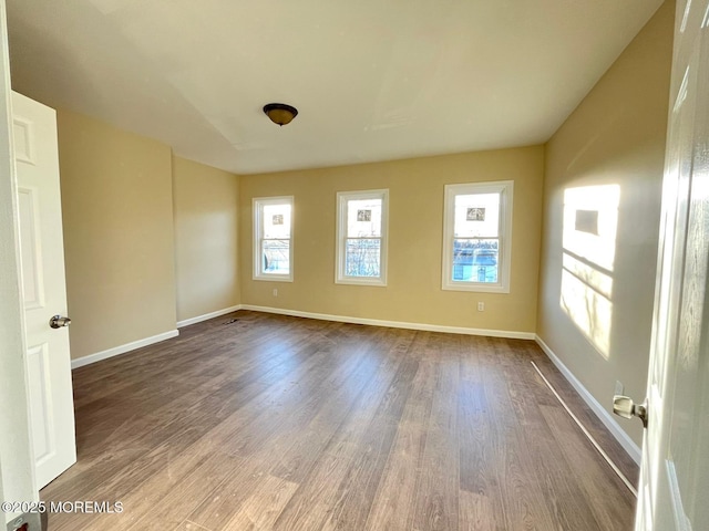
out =
<svg viewBox="0 0 709 531"><path fill-rule="evenodd" d="M645 396L672 23L666 2L546 146L537 333L608 410L616 381ZM598 237L576 209L599 210ZM620 424L639 445L640 423Z"/></svg>

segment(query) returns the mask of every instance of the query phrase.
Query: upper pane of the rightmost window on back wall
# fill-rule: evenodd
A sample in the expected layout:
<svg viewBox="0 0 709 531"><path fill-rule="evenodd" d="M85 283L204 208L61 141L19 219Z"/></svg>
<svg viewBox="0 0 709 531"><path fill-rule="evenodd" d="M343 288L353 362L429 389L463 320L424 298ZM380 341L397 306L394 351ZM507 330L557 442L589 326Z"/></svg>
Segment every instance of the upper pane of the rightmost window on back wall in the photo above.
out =
<svg viewBox="0 0 709 531"><path fill-rule="evenodd" d="M499 237L500 194L455 196L455 237Z"/></svg>

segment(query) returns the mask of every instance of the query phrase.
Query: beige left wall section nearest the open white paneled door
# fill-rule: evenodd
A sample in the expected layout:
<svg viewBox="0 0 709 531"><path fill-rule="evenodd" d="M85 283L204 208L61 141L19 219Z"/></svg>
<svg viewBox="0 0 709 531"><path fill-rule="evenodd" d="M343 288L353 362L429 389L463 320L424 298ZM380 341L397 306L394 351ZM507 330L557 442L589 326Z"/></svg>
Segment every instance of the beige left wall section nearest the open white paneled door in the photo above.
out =
<svg viewBox="0 0 709 531"><path fill-rule="evenodd" d="M175 330L171 148L59 111L72 357Z"/></svg>

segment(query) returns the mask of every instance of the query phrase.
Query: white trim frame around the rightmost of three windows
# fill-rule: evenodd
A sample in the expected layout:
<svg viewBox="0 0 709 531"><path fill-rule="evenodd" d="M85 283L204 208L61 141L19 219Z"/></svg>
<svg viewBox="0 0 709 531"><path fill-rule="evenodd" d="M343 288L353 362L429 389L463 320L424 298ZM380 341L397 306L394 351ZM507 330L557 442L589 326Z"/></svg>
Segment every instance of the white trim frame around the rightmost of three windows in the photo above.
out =
<svg viewBox="0 0 709 531"><path fill-rule="evenodd" d="M493 183L466 183L445 185L443 205L443 290L474 291L481 293L510 293L512 266L512 207L513 180ZM455 196L469 194L500 192L500 253L497 258L497 282L453 281L453 231L455 225Z"/></svg>

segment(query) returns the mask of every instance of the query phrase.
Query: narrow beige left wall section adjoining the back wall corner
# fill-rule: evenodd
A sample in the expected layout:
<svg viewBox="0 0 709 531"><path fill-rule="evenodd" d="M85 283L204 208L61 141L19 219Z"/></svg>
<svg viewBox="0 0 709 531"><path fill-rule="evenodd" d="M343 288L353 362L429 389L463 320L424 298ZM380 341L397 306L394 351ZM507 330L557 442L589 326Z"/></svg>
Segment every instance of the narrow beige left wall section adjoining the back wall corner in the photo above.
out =
<svg viewBox="0 0 709 531"><path fill-rule="evenodd" d="M238 177L173 157L177 321L239 304Z"/></svg>

